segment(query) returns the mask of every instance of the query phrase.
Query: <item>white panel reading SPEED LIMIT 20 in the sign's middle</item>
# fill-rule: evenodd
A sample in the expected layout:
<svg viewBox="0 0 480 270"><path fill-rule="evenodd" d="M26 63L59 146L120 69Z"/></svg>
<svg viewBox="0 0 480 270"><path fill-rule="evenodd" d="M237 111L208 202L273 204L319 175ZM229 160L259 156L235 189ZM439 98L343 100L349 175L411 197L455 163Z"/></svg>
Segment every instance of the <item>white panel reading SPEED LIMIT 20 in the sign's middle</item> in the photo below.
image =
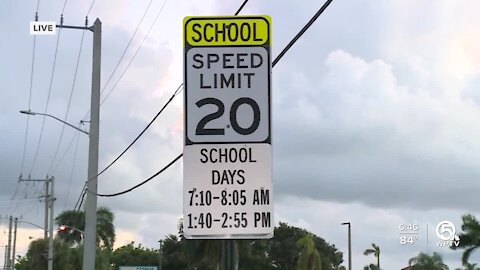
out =
<svg viewBox="0 0 480 270"><path fill-rule="evenodd" d="M192 48L185 88L192 143L263 142L270 136L268 51L256 47Z"/></svg>

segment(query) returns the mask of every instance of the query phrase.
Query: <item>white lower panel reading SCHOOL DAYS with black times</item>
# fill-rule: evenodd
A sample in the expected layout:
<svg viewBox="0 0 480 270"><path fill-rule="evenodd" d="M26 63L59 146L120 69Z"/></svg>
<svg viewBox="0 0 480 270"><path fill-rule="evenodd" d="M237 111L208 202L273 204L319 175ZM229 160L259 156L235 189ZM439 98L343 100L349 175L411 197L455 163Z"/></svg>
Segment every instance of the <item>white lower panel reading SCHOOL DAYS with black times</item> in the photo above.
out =
<svg viewBox="0 0 480 270"><path fill-rule="evenodd" d="M185 148L184 234L190 238L269 238L273 198L269 144Z"/></svg>

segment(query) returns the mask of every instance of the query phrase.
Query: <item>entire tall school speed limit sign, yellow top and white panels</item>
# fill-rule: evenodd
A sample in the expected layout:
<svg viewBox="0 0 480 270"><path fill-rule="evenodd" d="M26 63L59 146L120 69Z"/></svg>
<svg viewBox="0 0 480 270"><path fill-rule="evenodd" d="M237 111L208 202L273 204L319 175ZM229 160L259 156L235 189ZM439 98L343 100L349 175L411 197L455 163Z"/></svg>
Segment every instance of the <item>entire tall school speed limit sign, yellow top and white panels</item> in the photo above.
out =
<svg viewBox="0 0 480 270"><path fill-rule="evenodd" d="M184 234L272 237L270 17L183 26Z"/></svg>

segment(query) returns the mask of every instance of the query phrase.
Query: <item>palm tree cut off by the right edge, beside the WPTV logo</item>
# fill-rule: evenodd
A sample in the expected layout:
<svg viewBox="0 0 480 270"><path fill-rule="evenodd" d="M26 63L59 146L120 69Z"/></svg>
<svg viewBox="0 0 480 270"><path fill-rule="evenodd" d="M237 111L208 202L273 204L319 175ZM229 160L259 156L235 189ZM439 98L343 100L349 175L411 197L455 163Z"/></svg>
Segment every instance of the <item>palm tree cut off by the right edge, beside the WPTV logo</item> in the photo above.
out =
<svg viewBox="0 0 480 270"><path fill-rule="evenodd" d="M480 247L480 223L473 215L462 216L462 233L459 234L460 244L458 247L452 246L452 249L465 249L462 255L462 264L468 263L472 252Z"/></svg>

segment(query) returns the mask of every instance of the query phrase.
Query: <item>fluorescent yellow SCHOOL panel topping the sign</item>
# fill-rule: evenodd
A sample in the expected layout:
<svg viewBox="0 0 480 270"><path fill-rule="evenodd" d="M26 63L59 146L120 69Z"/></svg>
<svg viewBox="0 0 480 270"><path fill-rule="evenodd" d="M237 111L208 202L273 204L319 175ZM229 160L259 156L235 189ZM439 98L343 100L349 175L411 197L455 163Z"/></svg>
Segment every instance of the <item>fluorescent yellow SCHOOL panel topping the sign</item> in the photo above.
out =
<svg viewBox="0 0 480 270"><path fill-rule="evenodd" d="M184 45L270 45L269 16L186 17Z"/></svg>

